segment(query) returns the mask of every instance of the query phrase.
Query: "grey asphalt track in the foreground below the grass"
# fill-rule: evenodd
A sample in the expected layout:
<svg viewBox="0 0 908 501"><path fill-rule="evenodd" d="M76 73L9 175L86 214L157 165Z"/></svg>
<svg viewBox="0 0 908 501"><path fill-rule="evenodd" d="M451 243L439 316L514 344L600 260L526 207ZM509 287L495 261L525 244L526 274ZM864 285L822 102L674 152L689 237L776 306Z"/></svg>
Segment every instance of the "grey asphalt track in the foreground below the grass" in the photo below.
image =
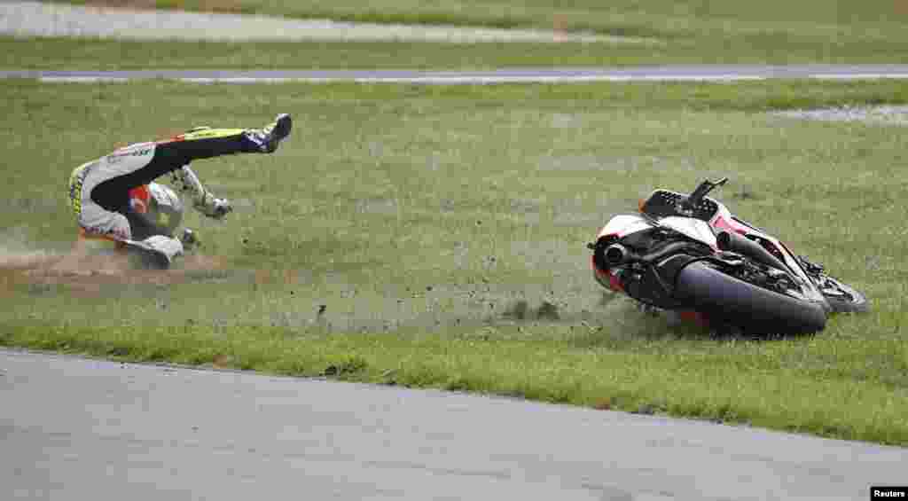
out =
<svg viewBox="0 0 908 501"><path fill-rule="evenodd" d="M0 499L869 499L908 449L0 350Z"/></svg>

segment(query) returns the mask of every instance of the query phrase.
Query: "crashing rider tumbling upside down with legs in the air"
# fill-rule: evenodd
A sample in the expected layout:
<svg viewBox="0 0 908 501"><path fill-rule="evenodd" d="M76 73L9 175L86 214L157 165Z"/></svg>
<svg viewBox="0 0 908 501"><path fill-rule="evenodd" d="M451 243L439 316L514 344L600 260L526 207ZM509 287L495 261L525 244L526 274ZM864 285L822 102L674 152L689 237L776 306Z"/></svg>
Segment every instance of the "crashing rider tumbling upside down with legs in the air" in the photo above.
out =
<svg viewBox="0 0 908 501"><path fill-rule="evenodd" d="M118 247L139 244L173 260L183 253L183 242L165 236L170 231L157 228L161 221L143 217L149 203L173 198L153 181L171 174L173 186L190 196L196 210L221 219L232 211L230 202L206 190L190 162L235 153L274 152L291 126L290 115L280 114L262 129L195 127L169 140L131 144L76 167L70 176L69 195L80 241L113 241Z"/></svg>

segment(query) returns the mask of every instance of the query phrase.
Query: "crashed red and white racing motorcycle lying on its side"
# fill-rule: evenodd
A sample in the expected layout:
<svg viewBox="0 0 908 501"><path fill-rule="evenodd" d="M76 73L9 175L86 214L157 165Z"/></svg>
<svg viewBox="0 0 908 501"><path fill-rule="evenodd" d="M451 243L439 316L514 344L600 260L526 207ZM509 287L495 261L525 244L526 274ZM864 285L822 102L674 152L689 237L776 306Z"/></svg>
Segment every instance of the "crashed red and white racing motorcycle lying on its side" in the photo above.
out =
<svg viewBox="0 0 908 501"><path fill-rule="evenodd" d="M587 244L597 282L645 309L749 334L813 333L831 313L869 310L862 292L706 196L727 181L657 189L638 214L612 217Z"/></svg>

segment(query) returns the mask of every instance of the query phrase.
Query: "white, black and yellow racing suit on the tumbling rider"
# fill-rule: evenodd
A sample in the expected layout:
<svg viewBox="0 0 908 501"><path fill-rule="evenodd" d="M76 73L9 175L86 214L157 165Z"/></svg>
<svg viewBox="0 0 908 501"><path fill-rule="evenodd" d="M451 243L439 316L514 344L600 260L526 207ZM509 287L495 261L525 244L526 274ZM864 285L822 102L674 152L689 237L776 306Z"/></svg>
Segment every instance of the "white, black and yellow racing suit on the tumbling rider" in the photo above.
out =
<svg viewBox="0 0 908 501"><path fill-rule="evenodd" d="M192 194L193 206L210 217L230 210L227 201L214 198L189 168L193 160L223 154L262 152L261 144L243 129L192 129L164 142L131 144L77 167L69 180L69 196L87 239L132 241L141 218L131 217L130 190L171 173L174 187ZM142 231L138 231L142 232ZM169 255L182 253L180 242L166 237L148 239Z"/></svg>

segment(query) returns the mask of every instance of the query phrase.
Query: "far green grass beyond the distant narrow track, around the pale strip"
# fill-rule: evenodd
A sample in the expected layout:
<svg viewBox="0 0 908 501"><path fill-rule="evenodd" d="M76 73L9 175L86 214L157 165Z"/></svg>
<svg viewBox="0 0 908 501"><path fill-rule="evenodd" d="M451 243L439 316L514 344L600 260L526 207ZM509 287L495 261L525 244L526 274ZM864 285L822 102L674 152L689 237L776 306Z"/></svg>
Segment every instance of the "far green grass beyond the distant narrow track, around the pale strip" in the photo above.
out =
<svg viewBox="0 0 908 501"><path fill-rule="evenodd" d="M84 3L84 2L74 2ZM117 2L109 2L116 4ZM203 67L445 67L485 68L519 65L617 64L795 64L795 63L904 63L908 32L903 29L908 6L902 1L782 0L637 0L601 2L533 1L515 5L505 0L419 2L381 0L364 6L358 0L166 0L160 7L220 10L247 14L301 18L417 23L485 25L497 27L559 28L601 34L644 36L662 44L124 44L127 53L153 54L163 66L183 66L191 58ZM5 42L7 48L10 46ZM91 48L88 48L91 45ZM141 47L141 48L138 48ZM149 58L118 56L116 45L55 41L41 52L7 54L7 67L47 68L44 59L65 61L67 49L75 54L104 54L100 62L77 58L66 67L82 69L100 64L150 64ZM206 61L205 53L212 54ZM39 55L40 54L40 55ZM169 54L169 55L168 55ZM268 54L262 56L262 54ZM12 60L10 58L12 57ZM22 59L16 64L16 58ZM188 63L187 63L188 64Z"/></svg>

